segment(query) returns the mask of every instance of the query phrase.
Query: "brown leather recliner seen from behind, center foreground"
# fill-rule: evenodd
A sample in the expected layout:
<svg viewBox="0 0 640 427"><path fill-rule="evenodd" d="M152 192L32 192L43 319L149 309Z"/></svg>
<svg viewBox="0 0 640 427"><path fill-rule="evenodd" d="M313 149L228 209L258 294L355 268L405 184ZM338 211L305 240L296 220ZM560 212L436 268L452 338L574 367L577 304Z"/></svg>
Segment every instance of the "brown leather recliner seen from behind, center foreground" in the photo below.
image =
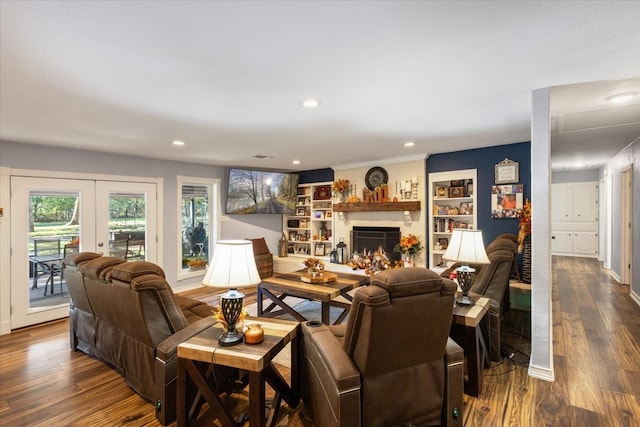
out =
<svg viewBox="0 0 640 427"><path fill-rule="evenodd" d="M346 325L302 325L301 392L318 427L456 425L464 354L449 338L454 282L424 268L359 288Z"/></svg>

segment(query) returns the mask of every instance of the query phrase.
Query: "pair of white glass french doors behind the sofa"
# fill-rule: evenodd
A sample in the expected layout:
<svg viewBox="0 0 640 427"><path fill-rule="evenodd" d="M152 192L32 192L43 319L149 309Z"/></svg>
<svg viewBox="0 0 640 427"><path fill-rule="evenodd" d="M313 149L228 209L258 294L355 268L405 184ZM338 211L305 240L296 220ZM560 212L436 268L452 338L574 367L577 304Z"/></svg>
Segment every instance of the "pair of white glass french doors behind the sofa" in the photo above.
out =
<svg viewBox="0 0 640 427"><path fill-rule="evenodd" d="M11 194L11 329L69 315L70 252L156 261L155 183L13 176Z"/></svg>

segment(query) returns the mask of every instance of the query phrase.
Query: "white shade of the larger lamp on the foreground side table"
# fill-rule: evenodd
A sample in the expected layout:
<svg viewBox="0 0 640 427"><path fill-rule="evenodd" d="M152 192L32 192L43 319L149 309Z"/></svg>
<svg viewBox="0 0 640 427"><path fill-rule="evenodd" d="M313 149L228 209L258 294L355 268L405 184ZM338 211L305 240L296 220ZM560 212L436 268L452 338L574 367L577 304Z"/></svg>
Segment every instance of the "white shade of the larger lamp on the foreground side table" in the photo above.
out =
<svg viewBox="0 0 640 427"><path fill-rule="evenodd" d="M202 284L214 288L241 288L260 283L251 240L219 240Z"/></svg>

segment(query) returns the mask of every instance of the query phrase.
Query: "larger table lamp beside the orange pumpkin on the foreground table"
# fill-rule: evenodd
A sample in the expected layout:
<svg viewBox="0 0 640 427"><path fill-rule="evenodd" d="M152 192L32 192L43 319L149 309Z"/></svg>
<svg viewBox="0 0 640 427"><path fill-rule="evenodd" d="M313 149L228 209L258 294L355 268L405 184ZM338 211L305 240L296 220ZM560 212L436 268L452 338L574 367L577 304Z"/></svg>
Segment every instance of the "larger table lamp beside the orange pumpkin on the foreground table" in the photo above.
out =
<svg viewBox="0 0 640 427"><path fill-rule="evenodd" d="M220 309L227 330L218 338L221 346L242 342L242 333L236 331L236 322L242 313L244 294L237 288L257 285L260 275L253 256L251 240L220 240L216 244L211 266L202 284L214 288L227 288L220 295Z"/></svg>

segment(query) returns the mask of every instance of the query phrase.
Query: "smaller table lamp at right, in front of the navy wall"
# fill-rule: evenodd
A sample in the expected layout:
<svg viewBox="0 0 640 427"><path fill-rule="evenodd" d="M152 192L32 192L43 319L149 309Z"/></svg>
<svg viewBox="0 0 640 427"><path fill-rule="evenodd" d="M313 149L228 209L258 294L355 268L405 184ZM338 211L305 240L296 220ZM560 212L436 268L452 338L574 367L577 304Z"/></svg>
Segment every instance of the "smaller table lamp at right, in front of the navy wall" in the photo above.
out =
<svg viewBox="0 0 640 427"><path fill-rule="evenodd" d="M484 250L482 241L482 230L467 230L455 228L451 233L451 242L447 246L447 250L442 259L449 261L457 261L462 266L456 268L458 284L462 289L462 298L457 300L458 304L473 305L473 301L469 297L469 290L473 285L473 277L476 269L470 267L469 264L490 264L487 252Z"/></svg>

